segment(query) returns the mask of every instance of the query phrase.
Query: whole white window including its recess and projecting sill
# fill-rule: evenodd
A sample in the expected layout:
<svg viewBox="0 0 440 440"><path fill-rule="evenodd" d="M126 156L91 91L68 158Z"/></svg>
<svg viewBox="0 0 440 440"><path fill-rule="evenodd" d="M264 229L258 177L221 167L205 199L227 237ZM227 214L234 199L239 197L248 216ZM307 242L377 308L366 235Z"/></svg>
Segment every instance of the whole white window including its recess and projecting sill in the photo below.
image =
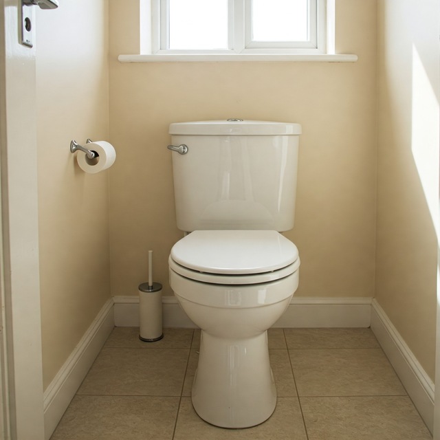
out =
<svg viewBox="0 0 440 440"><path fill-rule="evenodd" d="M121 63L318 61L336 54L336 0L139 0L140 53Z"/></svg>

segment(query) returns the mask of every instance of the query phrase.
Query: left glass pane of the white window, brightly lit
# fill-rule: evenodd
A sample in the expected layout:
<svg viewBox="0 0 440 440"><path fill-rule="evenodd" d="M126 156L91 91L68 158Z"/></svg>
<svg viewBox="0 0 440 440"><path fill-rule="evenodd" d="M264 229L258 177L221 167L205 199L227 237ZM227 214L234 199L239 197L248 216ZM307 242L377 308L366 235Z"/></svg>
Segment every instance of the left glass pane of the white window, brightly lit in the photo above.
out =
<svg viewBox="0 0 440 440"><path fill-rule="evenodd" d="M228 0L169 0L170 49L228 49Z"/></svg>

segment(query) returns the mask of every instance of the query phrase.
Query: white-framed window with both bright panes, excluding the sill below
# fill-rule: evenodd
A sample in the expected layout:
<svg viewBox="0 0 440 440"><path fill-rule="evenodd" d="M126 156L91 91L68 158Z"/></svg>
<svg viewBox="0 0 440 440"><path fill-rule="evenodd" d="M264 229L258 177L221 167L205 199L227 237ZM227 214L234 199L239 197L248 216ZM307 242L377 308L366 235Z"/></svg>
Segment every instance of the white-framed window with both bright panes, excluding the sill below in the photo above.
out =
<svg viewBox="0 0 440 440"><path fill-rule="evenodd" d="M320 54L327 0L153 0L152 54Z"/></svg>

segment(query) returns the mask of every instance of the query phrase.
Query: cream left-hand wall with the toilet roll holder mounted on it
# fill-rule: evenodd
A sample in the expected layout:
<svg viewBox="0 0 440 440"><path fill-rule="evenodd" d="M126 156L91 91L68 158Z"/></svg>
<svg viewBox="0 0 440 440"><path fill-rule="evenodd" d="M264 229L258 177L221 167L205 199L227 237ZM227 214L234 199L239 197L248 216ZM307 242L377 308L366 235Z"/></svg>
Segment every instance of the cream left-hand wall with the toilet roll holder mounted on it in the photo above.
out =
<svg viewBox="0 0 440 440"><path fill-rule="evenodd" d="M109 174L83 173L69 151L108 139L108 4L60 3L36 14L45 388L110 298Z"/></svg>

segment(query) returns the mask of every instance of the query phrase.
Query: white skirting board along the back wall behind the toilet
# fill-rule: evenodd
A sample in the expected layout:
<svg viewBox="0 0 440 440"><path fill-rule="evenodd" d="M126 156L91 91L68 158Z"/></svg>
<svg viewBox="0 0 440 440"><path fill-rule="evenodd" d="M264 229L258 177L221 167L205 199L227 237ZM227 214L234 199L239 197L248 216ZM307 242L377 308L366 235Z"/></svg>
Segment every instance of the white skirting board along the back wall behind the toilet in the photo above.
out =
<svg viewBox="0 0 440 440"><path fill-rule="evenodd" d="M369 327L372 298L292 298L274 327ZM113 296L115 326L139 327L139 296ZM196 328L175 296L163 296L164 327Z"/></svg>

